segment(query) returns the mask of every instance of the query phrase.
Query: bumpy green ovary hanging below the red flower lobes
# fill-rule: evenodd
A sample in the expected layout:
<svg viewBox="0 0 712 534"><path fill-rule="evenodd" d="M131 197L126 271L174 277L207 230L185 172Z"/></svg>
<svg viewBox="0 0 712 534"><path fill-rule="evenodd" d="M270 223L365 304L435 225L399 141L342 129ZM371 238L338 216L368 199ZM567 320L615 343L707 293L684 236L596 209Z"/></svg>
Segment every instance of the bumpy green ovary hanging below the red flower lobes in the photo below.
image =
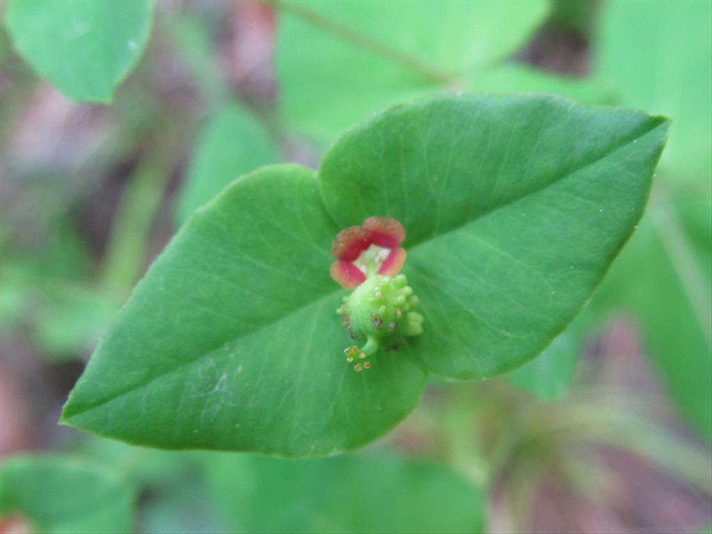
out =
<svg viewBox="0 0 712 534"><path fill-rule="evenodd" d="M352 338L366 341L362 348L352 346L345 351L347 361L358 361L355 370L370 368L370 363L360 361L373 356L379 348L398 348L404 338L422 333L423 316L413 311L417 305L418 297L404 274L368 277L344 297L337 313L344 316Z"/></svg>

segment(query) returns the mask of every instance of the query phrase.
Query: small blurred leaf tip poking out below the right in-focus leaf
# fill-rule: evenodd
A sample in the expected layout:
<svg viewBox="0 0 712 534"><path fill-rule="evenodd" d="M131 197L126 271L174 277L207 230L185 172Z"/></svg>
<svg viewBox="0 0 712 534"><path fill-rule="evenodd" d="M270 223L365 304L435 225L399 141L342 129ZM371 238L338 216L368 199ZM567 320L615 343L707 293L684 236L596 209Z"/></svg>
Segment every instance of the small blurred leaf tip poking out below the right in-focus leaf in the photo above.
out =
<svg viewBox="0 0 712 534"><path fill-rule="evenodd" d="M582 332L590 319L583 311L560 333L544 352L508 373L512 385L542 400L558 400L566 395L582 349Z"/></svg>

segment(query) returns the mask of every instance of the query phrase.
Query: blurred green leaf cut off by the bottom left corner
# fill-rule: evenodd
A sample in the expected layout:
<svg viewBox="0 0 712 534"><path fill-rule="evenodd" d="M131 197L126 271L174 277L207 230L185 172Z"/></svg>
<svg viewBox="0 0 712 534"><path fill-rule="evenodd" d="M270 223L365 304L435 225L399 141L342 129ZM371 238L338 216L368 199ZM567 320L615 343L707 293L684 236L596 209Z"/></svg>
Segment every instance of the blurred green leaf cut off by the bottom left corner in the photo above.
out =
<svg viewBox="0 0 712 534"><path fill-rule="evenodd" d="M125 481L84 461L16 456L0 468L0 516L19 516L36 532L130 532L134 503Z"/></svg>

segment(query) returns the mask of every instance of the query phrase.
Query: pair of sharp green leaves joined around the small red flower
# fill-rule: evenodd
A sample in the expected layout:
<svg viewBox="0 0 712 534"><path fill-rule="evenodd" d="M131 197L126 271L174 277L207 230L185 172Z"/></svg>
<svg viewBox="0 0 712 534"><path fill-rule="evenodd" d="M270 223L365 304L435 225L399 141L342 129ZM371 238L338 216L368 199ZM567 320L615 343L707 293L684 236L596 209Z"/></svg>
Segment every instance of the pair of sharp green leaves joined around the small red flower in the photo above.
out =
<svg viewBox="0 0 712 534"><path fill-rule="evenodd" d="M417 404L424 366L502 373L564 329L637 223L665 132L664 119L548 97L439 97L350 130L319 177L244 176L149 269L63 420L170 448L369 442ZM354 373L329 249L371 215L407 228L425 333Z"/></svg>

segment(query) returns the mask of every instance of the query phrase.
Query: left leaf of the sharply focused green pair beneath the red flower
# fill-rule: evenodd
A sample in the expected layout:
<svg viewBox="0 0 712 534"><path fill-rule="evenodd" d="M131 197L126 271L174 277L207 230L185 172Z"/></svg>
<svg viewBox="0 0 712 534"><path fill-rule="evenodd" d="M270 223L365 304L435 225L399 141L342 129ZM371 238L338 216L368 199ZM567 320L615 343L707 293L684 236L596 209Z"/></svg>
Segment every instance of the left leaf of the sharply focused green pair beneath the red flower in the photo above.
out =
<svg viewBox="0 0 712 534"><path fill-rule="evenodd" d="M369 377L345 365L345 292L329 277L338 230L310 169L266 167L229 186L138 284L64 420L137 444L290 456L386 432L417 405L425 373L409 349Z"/></svg>

